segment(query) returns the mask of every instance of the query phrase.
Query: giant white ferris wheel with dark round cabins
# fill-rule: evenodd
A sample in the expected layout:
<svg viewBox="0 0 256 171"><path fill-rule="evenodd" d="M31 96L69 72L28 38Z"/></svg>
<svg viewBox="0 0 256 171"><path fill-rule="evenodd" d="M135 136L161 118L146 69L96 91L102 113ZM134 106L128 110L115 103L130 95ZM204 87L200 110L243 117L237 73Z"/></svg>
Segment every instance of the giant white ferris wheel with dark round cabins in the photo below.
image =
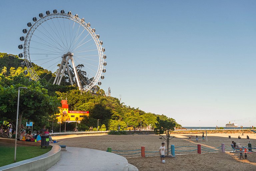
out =
<svg viewBox="0 0 256 171"><path fill-rule="evenodd" d="M56 9L53 13L40 13L32 20L22 30L26 34L20 37L24 44L18 46L23 49L18 56L24 57L21 66L27 68L25 75L37 81L49 77L51 71L54 74L49 81L53 84L76 85L82 91L95 90L96 84L101 85L107 56L90 23L71 11Z"/></svg>

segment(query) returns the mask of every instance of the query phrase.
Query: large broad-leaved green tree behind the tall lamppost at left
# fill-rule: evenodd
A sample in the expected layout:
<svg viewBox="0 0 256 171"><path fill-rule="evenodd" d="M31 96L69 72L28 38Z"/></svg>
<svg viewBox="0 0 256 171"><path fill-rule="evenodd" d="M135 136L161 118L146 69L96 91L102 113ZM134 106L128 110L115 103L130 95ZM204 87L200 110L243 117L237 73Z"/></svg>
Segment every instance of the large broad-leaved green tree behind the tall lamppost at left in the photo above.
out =
<svg viewBox="0 0 256 171"><path fill-rule="evenodd" d="M27 87L27 90L20 91L19 115L18 115L18 136L20 135L21 122L23 119L37 121L45 119L53 113L57 113L61 105L57 96L49 96L48 90L43 88L40 82L30 82L27 78L16 76L17 83L10 81L13 85L0 84L0 118L7 118L9 122L16 122L18 87Z"/></svg>

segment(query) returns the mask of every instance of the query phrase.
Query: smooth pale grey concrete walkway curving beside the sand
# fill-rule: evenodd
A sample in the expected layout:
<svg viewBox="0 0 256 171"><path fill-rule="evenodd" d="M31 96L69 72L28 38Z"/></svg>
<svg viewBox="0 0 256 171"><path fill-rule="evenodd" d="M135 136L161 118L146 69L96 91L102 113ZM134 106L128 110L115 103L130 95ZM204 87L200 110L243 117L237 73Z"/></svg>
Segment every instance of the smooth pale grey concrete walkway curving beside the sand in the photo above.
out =
<svg viewBox="0 0 256 171"><path fill-rule="evenodd" d="M106 151L88 148L66 147L60 161L47 171L138 171L126 158Z"/></svg>

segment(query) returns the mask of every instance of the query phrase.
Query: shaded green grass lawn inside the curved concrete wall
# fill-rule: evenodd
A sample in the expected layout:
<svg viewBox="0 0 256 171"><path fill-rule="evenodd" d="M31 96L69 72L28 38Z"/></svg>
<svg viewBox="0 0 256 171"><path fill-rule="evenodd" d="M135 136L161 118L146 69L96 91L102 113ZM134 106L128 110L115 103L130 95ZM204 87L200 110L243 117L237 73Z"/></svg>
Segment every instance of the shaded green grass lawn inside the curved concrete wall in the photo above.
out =
<svg viewBox="0 0 256 171"><path fill-rule="evenodd" d="M47 153L52 149L52 146L48 148L42 148L41 146L31 147L17 147L16 151L16 162L27 160L36 156L40 156ZM0 167L14 163L14 147L0 147Z"/></svg>

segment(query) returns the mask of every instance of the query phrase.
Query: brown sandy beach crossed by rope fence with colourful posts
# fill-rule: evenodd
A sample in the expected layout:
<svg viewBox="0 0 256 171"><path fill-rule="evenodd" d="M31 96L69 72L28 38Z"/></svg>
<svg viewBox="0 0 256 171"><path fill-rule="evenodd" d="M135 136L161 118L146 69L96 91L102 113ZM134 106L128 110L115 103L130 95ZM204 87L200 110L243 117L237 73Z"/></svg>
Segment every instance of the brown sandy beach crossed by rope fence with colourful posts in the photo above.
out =
<svg viewBox="0 0 256 171"><path fill-rule="evenodd" d="M193 134L193 138L196 135L199 136L199 142L192 138L191 141L187 141L187 138L191 134L175 134L177 138L170 140L170 145L178 146L197 146L201 144L205 148L217 148L221 146L221 143L225 143L227 147L230 147L231 141L239 142L243 146L248 145L250 142L253 146L256 146L256 134L208 134L208 141L202 142L201 134ZM242 139L238 139L238 136ZM246 135L250 139L246 139ZM231 136L231 139L228 138ZM158 151L162 139L159 139L158 135L63 135L53 136L59 144L64 144L70 147L83 147L97 150L106 151L107 147L111 147L113 150L135 150L140 149L141 146L145 146L146 151ZM206 140L206 137L205 137ZM193 150L195 147L181 147L179 150ZM231 151L226 149L226 151ZM248 160L239 160L239 153L221 153L218 151L202 151L204 154L192 154L197 151L190 152L178 152L176 151L175 158L166 158L166 163L160 162L160 157L139 157L140 154L123 155L127 158L128 162L136 166L139 171L154 171L154 170L256 170L256 153L248 154ZM215 152L215 153L213 153ZM217 152L217 153L216 153ZM131 152L114 152L122 154L131 154ZM146 155L158 155L159 153L146 153ZM182 155L187 154L187 155Z"/></svg>

